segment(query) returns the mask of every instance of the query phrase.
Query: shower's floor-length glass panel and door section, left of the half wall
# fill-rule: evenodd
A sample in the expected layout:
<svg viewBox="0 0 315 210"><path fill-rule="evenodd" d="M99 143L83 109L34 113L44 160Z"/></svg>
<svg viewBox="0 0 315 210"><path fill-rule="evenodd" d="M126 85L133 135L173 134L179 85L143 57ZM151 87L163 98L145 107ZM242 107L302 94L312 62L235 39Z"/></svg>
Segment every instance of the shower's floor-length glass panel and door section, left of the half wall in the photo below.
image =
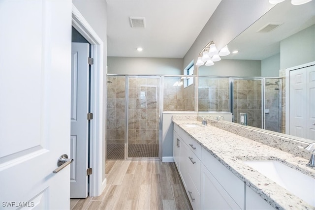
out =
<svg viewBox="0 0 315 210"><path fill-rule="evenodd" d="M107 79L106 158L158 158L160 77Z"/></svg>

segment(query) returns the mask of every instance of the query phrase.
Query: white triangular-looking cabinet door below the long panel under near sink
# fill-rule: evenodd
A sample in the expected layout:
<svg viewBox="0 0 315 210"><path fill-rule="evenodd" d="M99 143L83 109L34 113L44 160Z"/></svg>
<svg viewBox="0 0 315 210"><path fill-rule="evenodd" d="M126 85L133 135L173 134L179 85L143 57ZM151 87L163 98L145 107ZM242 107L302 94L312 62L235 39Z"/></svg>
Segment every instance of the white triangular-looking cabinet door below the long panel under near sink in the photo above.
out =
<svg viewBox="0 0 315 210"><path fill-rule="evenodd" d="M241 210L203 164L200 196L202 210Z"/></svg>

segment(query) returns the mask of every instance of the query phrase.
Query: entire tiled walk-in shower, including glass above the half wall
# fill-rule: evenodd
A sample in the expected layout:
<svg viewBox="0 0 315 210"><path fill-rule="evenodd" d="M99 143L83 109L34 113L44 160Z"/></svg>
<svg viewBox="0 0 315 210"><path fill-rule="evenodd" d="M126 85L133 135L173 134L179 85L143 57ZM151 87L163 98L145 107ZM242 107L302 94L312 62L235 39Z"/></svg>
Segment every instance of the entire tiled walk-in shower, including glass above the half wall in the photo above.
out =
<svg viewBox="0 0 315 210"><path fill-rule="evenodd" d="M160 158L162 111L195 111L195 76L107 76L106 159Z"/></svg>

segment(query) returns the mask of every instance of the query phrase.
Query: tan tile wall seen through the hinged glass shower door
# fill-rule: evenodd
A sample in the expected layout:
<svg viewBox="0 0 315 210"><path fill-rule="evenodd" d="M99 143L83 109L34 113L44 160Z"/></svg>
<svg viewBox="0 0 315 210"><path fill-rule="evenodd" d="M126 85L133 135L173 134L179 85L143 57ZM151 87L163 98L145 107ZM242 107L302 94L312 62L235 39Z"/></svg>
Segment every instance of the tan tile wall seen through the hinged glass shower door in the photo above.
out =
<svg viewBox="0 0 315 210"><path fill-rule="evenodd" d="M128 144L158 144L159 78L129 78Z"/></svg>

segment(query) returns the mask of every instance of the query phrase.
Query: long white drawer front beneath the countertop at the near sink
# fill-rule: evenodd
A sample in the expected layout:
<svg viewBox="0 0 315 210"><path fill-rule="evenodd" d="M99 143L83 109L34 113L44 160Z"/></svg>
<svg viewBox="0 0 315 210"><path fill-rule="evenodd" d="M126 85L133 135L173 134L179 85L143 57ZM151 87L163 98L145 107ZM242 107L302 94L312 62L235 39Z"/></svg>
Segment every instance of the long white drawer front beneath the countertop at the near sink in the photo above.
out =
<svg viewBox="0 0 315 210"><path fill-rule="evenodd" d="M204 148L201 149L201 161L237 205L243 209L245 183L237 178Z"/></svg>

